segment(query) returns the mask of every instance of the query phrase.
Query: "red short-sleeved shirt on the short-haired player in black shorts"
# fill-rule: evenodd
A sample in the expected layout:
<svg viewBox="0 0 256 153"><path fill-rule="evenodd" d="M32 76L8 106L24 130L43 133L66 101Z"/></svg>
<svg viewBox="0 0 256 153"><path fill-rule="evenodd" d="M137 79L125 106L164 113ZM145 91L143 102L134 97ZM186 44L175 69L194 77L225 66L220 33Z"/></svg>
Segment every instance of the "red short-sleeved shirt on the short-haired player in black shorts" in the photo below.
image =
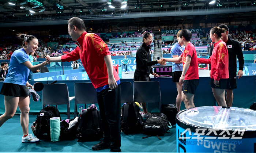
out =
<svg viewBox="0 0 256 153"><path fill-rule="evenodd" d="M189 68L185 74L184 80L199 79L196 49L192 43L188 43L188 45L185 47L183 53L181 54L183 70L184 70L184 64L186 62L186 57L188 55L191 56L191 61L190 61Z"/></svg>

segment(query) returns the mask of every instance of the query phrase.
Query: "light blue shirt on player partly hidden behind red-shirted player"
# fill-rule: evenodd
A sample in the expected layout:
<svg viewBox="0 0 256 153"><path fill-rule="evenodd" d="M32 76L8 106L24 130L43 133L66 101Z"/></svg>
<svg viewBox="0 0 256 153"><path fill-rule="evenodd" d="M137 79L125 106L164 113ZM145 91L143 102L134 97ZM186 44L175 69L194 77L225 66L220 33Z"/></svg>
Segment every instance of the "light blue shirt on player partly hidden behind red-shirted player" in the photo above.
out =
<svg viewBox="0 0 256 153"><path fill-rule="evenodd" d="M179 43L175 43L171 49L171 57L173 58L173 55L178 55L180 56L183 51L184 51L185 47L181 46ZM175 71L182 71L182 64L175 64L174 62L172 63L172 72Z"/></svg>

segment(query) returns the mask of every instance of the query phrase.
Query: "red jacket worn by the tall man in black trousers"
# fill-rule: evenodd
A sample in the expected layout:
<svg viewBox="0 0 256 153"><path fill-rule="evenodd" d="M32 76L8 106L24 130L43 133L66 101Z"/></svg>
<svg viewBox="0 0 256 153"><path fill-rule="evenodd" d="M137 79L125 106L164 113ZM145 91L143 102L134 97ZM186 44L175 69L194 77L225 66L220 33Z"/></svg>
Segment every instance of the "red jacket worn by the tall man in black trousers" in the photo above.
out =
<svg viewBox="0 0 256 153"><path fill-rule="evenodd" d="M78 47L61 56L61 61L70 62L80 58L94 88L107 85L108 70L104 56L110 55L108 45L98 35L86 31L76 41ZM114 67L113 73L116 81L120 80Z"/></svg>

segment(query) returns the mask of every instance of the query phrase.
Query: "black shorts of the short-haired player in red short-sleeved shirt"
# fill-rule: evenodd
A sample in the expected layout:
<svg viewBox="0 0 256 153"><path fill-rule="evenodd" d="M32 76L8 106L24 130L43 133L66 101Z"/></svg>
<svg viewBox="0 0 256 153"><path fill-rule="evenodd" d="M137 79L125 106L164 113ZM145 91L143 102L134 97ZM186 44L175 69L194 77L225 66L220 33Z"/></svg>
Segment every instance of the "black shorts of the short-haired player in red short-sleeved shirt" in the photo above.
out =
<svg viewBox="0 0 256 153"><path fill-rule="evenodd" d="M184 84L182 85L183 93L191 93L195 95L198 83L199 83L199 79L184 80Z"/></svg>

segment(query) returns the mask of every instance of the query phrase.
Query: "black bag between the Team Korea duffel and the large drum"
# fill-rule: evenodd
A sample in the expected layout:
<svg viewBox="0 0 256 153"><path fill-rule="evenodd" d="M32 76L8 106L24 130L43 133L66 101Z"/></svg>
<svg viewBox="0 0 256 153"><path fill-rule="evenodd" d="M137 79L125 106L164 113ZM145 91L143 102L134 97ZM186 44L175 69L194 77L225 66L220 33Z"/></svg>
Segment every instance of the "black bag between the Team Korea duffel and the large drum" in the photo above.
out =
<svg viewBox="0 0 256 153"><path fill-rule="evenodd" d="M168 121L175 125L176 114L178 113L177 106L175 104L162 104L162 113L166 115Z"/></svg>

